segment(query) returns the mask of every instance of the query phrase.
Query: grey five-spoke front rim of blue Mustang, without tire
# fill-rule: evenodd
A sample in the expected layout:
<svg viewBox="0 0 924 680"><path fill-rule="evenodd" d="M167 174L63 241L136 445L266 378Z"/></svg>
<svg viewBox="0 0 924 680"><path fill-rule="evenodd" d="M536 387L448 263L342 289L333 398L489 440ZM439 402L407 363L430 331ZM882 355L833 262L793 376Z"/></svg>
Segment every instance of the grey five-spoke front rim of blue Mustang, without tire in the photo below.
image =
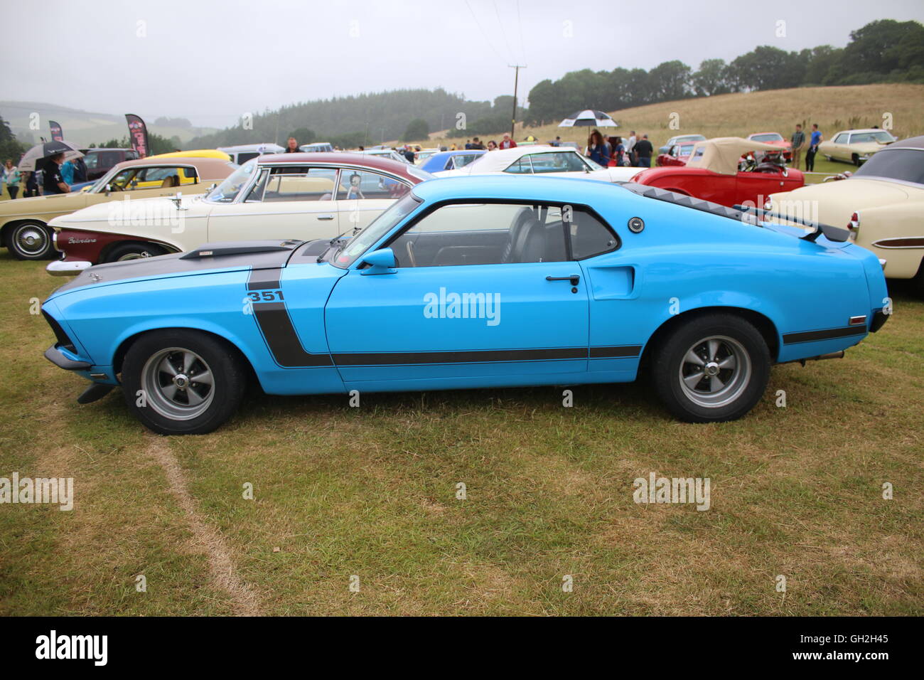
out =
<svg viewBox="0 0 924 680"><path fill-rule="evenodd" d="M144 398L158 414L189 420L205 413L214 396L212 369L196 352L170 347L154 353L141 369Z"/></svg>

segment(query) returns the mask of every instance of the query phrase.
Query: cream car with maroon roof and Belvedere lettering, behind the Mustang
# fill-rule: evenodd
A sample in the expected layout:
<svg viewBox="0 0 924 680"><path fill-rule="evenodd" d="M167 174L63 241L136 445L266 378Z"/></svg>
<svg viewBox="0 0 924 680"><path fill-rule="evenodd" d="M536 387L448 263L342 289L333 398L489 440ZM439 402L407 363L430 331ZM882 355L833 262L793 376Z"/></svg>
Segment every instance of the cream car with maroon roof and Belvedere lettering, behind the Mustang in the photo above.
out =
<svg viewBox="0 0 924 680"><path fill-rule="evenodd" d="M261 155L204 196L93 205L52 220L68 276L101 262L188 251L214 241L331 239L366 227L428 172L359 154Z"/></svg>

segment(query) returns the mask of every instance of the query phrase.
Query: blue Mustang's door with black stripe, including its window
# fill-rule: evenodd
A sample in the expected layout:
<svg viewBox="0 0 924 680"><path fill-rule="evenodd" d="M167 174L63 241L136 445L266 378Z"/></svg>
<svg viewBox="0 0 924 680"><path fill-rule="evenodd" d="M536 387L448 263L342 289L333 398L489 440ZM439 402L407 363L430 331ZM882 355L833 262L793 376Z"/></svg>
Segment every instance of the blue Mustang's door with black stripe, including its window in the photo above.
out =
<svg viewBox="0 0 924 680"><path fill-rule="evenodd" d="M529 385L585 375L587 291L568 261L561 217L551 213L547 205L444 204L387 244L396 265L388 273L372 273L360 257L325 309L347 386Z"/></svg>

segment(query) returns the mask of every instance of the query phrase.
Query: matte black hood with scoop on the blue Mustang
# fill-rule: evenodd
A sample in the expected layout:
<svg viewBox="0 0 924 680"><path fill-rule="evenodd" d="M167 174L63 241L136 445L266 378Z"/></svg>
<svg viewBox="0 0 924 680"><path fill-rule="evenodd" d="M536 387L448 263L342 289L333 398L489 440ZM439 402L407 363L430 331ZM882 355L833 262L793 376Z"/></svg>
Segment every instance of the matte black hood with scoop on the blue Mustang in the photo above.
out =
<svg viewBox="0 0 924 680"><path fill-rule="evenodd" d="M87 286L111 286L126 281L217 274L249 269L278 269L288 264L301 246L321 253L329 241L235 241L206 243L188 253L172 253L137 260L91 266L54 291L49 300ZM304 254L304 253L303 253Z"/></svg>

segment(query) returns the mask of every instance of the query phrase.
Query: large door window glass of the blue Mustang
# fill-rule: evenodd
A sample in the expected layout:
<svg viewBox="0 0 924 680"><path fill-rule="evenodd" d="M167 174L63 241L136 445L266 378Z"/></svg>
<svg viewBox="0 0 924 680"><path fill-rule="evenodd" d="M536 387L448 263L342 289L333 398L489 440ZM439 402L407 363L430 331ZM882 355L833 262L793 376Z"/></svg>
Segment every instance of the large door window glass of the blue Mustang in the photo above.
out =
<svg viewBox="0 0 924 680"><path fill-rule="evenodd" d="M399 267L567 260L561 209L542 205L444 205L419 219L390 247Z"/></svg>

